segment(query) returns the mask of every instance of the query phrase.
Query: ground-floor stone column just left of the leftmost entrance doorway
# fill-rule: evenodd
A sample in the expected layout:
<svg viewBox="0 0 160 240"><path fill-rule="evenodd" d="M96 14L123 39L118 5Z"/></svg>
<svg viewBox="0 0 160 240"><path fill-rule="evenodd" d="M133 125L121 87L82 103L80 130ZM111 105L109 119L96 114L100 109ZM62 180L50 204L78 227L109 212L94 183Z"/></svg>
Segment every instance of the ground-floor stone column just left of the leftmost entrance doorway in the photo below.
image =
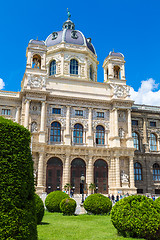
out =
<svg viewBox="0 0 160 240"><path fill-rule="evenodd" d="M44 186L43 186L43 161L44 161L44 153L39 153L37 190L42 191L42 192L44 189Z"/></svg>

